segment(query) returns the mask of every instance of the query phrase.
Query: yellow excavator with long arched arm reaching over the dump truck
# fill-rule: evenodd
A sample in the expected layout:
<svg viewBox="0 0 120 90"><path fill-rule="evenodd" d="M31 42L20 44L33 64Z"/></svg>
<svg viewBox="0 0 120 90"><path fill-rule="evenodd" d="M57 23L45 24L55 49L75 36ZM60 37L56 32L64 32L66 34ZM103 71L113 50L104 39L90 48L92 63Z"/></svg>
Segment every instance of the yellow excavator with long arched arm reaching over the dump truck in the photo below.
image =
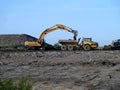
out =
<svg viewBox="0 0 120 90"><path fill-rule="evenodd" d="M58 30L58 29L62 29L62 30L73 33L74 34L74 40L76 40L78 31L73 30L73 29L71 29L67 26L62 25L62 24L56 24L56 25L46 29L45 31L43 31L37 41L34 41L34 42L33 41L32 42L26 41L25 46L30 46L30 47L35 47L35 48L43 48L43 47L45 48L45 40L44 40L45 35L50 33L50 32L53 32L55 30Z"/></svg>

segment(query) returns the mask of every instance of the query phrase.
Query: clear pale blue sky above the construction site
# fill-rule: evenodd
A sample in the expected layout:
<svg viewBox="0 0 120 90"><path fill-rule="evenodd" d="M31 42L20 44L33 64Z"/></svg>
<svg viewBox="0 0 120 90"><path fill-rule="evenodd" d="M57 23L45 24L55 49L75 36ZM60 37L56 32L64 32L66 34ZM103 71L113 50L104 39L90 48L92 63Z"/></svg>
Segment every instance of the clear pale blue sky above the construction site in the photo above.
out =
<svg viewBox="0 0 120 90"><path fill-rule="evenodd" d="M39 38L56 24L78 31L77 38L92 38L99 46L120 38L120 0L0 0L0 34L29 34ZM56 30L45 36L55 44L73 34Z"/></svg>

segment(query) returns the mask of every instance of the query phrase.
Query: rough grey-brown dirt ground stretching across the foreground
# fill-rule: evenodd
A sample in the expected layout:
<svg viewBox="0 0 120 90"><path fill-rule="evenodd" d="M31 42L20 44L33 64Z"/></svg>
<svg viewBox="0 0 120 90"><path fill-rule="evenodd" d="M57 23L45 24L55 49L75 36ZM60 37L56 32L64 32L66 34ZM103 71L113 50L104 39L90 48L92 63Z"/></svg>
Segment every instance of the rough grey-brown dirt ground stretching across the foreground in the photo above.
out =
<svg viewBox="0 0 120 90"><path fill-rule="evenodd" d="M33 90L120 90L120 51L0 51L0 78Z"/></svg>

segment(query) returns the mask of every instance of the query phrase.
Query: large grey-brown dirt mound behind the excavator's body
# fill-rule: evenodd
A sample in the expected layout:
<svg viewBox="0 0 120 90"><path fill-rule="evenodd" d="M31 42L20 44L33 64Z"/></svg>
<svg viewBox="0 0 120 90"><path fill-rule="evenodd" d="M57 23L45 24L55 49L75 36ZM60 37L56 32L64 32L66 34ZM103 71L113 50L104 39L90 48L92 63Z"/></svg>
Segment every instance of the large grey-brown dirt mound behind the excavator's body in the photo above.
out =
<svg viewBox="0 0 120 90"><path fill-rule="evenodd" d="M27 34L4 34L0 35L0 46L21 46L25 41L36 41L37 39Z"/></svg>

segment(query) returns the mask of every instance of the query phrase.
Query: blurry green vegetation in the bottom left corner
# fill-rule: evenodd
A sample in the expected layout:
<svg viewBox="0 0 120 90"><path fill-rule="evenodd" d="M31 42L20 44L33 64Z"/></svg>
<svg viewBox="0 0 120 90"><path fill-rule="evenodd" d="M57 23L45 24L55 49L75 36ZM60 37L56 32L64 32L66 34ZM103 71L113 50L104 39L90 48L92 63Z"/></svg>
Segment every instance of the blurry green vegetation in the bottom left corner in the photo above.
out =
<svg viewBox="0 0 120 90"><path fill-rule="evenodd" d="M12 79L0 79L0 90L32 90L32 84L29 83L28 77L22 77L17 83Z"/></svg>

